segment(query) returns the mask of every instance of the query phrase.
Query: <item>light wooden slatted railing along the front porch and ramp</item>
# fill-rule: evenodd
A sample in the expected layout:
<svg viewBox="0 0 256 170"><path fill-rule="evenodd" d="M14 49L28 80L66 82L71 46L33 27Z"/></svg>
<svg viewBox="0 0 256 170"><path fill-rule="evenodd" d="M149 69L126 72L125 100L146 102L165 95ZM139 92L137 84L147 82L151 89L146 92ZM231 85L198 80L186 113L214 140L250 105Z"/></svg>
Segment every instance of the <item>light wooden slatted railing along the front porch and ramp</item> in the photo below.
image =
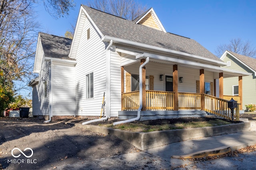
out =
<svg viewBox="0 0 256 170"><path fill-rule="evenodd" d="M201 110L201 96L204 95L204 111L226 119L232 119L228 100L240 101L239 96L225 96L228 100L197 93L178 93L179 110ZM122 94L122 110L136 111L139 108L139 91ZM173 110L174 92L146 90L146 110ZM238 102L239 103L239 102ZM239 111L239 109L236 109ZM238 112L239 116L239 112ZM235 117L235 114L234 114Z"/></svg>

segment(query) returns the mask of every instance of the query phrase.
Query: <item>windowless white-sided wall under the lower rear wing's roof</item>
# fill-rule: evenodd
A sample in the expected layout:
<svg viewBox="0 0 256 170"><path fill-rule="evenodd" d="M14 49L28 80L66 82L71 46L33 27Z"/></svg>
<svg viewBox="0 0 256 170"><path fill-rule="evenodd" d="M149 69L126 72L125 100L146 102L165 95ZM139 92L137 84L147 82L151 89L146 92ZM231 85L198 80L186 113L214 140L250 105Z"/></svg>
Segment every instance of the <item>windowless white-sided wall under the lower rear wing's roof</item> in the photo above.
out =
<svg viewBox="0 0 256 170"><path fill-rule="evenodd" d="M75 67L52 64L52 116L75 115Z"/></svg>

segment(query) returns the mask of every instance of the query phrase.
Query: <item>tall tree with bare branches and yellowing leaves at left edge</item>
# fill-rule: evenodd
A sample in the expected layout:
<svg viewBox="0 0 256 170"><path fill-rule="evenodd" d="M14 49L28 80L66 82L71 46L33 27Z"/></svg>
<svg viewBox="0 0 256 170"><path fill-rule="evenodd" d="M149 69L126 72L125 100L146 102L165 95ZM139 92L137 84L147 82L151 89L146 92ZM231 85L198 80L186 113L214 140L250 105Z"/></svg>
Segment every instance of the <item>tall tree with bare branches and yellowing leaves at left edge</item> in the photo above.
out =
<svg viewBox="0 0 256 170"><path fill-rule="evenodd" d="M41 2L60 17L68 14L73 0L0 0L0 111L33 76L39 27L34 5Z"/></svg>

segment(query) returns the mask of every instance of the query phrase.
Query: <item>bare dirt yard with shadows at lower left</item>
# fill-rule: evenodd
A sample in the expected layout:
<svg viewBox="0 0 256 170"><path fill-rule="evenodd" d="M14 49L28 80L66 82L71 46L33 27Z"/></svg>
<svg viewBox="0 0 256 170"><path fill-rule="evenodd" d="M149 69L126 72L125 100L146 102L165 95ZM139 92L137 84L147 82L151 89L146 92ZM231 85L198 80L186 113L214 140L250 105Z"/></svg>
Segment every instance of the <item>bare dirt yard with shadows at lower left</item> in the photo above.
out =
<svg viewBox="0 0 256 170"><path fill-rule="evenodd" d="M31 148L34 153L26 158L14 148L19 148L26 156L32 154L30 150L24 151L26 148ZM13 149L14 156L21 156L14 158ZM62 164L138 151L115 136L94 133L63 122L44 124L37 118L0 118L0 169L54 169Z"/></svg>

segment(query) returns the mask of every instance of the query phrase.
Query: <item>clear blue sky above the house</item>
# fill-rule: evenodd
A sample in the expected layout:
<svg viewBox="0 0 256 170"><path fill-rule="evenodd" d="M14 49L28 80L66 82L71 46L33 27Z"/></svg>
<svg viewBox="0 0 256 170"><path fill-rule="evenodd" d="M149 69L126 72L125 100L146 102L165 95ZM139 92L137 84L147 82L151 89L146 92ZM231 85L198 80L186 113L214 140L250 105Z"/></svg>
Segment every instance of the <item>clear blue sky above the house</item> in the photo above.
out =
<svg viewBox="0 0 256 170"><path fill-rule="evenodd" d="M53 19L43 6L38 6L38 21L42 32L64 36L75 25L80 4L70 15ZM256 48L255 0L138 0L153 7L166 31L196 40L215 54L217 45L229 43L232 38L249 40Z"/></svg>

